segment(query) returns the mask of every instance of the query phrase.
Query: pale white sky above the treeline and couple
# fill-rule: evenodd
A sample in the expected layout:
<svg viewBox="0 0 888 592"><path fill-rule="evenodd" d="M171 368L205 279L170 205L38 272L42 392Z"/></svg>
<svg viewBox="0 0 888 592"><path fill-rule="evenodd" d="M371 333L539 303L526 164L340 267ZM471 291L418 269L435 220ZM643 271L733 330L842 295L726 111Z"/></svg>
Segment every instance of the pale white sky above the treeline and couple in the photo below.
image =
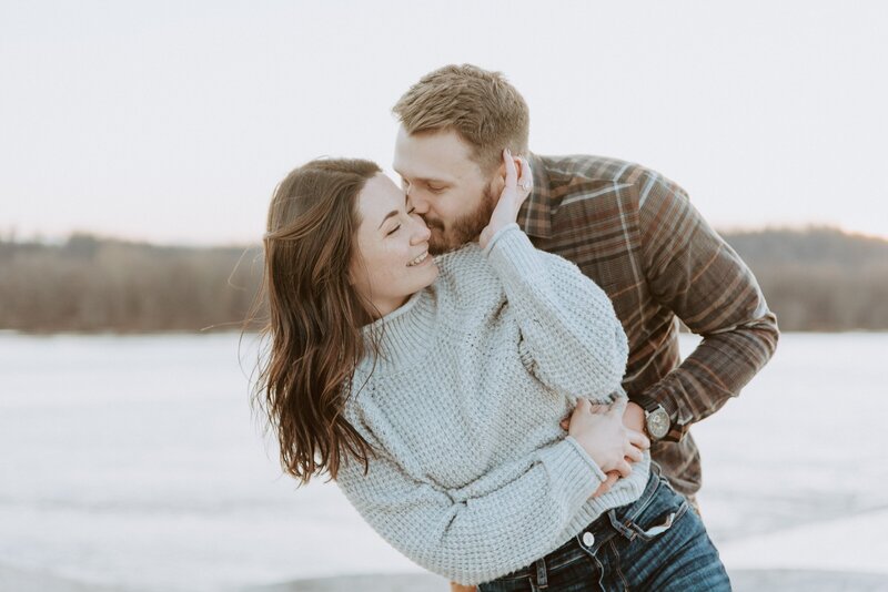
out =
<svg viewBox="0 0 888 592"><path fill-rule="evenodd" d="M0 0L0 232L256 242L319 155L391 173L392 104L501 70L541 154L677 181L717 226L888 237L888 3Z"/></svg>

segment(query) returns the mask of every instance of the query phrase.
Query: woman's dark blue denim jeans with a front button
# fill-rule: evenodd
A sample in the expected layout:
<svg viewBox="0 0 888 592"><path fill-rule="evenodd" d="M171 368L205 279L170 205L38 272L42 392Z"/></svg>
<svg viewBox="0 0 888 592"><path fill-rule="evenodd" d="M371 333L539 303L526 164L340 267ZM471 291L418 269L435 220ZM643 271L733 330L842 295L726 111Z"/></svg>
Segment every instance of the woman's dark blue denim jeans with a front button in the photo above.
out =
<svg viewBox="0 0 888 592"><path fill-rule="evenodd" d="M730 590L699 517L652 466L634 503L597 518L576 537L478 592Z"/></svg>

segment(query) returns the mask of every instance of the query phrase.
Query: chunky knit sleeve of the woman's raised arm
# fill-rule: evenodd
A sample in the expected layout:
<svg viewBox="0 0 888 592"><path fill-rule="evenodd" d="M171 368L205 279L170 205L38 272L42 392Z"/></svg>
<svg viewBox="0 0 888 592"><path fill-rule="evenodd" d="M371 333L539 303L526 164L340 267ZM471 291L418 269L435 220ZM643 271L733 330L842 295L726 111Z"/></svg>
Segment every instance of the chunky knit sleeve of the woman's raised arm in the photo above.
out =
<svg viewBox="0 0 888 592"><path fill-rule="evenodd" d="M536 249L517 224L485 248L516 309L522 359L543 384L573 397L620 391L629 353L607 294L572 262Z"/></svg>

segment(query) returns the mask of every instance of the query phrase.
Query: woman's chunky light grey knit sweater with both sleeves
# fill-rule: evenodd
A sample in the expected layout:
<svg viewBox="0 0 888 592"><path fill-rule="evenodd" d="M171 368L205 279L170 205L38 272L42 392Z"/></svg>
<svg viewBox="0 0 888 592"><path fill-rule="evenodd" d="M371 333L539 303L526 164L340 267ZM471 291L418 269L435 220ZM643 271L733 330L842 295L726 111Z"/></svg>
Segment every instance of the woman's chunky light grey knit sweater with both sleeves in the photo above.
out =
<svg viewBox="0 0 888 592"><path fill-rule="evenodd" d="M577 397L625 399L628 347L610 300L517 224L436 259L441 274L364 328L345 418L376 450L337 484L370 525L425 569L493 580L638 499L649 456L609 492L558 421ZM375 364L374 364L375 361Z"/></svg>

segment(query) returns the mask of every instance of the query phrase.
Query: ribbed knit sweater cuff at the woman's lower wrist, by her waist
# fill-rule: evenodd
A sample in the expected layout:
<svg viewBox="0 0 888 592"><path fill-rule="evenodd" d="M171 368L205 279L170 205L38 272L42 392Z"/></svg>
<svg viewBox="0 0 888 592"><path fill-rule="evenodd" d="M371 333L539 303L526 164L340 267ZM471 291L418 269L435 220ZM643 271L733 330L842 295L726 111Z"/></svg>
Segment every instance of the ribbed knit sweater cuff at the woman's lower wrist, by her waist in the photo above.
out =
<svg viewBox="0 0 888 592"><path fill-rule="evenodd" d="M553 494L576 511L595 493L607 476L572 436L539 451L539 460L548 472Z"/></svg>

